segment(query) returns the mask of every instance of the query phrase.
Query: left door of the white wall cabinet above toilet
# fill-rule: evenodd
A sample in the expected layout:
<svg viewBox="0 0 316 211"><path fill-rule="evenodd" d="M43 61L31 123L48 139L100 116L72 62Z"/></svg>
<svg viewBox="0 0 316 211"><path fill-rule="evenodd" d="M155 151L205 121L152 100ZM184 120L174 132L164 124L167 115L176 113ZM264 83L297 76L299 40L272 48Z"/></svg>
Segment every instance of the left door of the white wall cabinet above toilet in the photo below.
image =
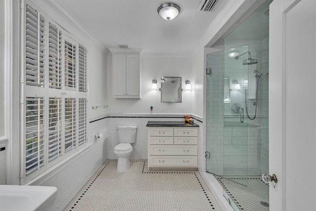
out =
<svg viewBox="0 0 316 211"><path fill-rule="evenodd" d="M126 96L126 55L113 55L113 97Z"/></svg>

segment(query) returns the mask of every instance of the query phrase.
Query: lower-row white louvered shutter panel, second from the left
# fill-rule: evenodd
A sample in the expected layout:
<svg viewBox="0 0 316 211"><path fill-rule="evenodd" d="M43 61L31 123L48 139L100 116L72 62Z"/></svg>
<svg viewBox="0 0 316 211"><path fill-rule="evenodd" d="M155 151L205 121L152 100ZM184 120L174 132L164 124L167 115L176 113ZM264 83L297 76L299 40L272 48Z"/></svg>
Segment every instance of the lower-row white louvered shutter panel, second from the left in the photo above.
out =
<svg viewBox="0 0 316 211"><path fill-rule="evenodd" d="M49 98L48 162L62 156L62 103L61 98Z"/></svg>

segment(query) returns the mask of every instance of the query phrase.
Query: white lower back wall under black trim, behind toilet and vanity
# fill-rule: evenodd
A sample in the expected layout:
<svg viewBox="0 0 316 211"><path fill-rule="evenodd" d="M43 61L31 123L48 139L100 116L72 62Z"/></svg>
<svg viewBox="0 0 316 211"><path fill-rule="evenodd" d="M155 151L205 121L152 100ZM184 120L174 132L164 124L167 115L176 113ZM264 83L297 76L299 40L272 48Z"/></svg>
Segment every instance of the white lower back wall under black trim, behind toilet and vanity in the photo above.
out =
<svg viewBox="0 0 316 211"><path fill-rule="evenodd" d="M141 116L141 115L140 115ZM107 158L117 159L114 154L114 147L118 145L118 125L135 125L136 141L132 143L133 152L130 156L131 159L147 159L147 143L148 133L146 127L148 121L182 121L183 118L150 118L150 117L108 117L108 137L106 141L107 145ZM195 121L199 124L197 121ZM201 127L199 128L201 130ZM200 132L201 134L201 132Z"/></svg>

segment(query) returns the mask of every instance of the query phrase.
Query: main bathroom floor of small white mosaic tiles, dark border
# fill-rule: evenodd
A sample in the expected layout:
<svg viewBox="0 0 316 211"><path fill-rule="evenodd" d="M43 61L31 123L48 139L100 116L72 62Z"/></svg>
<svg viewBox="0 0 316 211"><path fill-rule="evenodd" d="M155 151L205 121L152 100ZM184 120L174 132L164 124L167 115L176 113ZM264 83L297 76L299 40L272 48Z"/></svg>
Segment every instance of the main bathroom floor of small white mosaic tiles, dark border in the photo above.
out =
<svg viewBox="0 0 316 211"><path fill-rule="evenodd" d="M64 211L221 211L197 170L147 170L147 160L116 167L107 160Z"/></svg>

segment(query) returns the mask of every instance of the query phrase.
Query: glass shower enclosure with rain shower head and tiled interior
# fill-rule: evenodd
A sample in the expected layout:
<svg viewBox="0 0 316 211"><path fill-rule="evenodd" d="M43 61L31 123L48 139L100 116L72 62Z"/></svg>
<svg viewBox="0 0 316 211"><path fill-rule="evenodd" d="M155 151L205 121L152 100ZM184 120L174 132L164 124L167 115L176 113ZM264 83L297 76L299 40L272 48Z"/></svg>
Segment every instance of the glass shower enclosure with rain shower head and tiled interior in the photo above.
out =
<svg viewBox="0 0 316 211"><path fill-rule="evenodd" d="M269 210L269 4L207 55L206 171L234 210Z"/></svg>

